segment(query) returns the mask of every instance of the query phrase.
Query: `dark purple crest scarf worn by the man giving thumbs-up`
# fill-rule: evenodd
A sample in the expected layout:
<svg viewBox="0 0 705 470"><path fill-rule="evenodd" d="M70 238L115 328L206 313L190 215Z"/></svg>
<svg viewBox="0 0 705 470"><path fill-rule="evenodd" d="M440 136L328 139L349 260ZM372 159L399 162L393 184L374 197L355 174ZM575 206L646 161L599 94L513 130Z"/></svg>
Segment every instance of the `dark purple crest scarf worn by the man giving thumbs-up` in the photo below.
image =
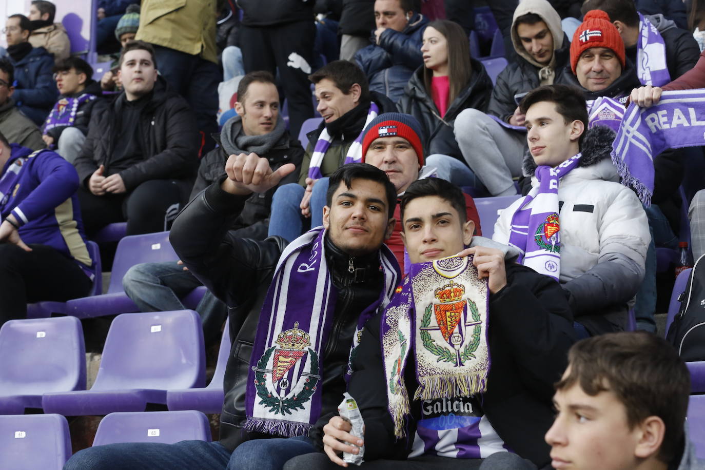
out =
<svg viewBox="0 0 705 470"><path fill-rule="evenodd" d="M247 431L307 435L321 414L323 350L333 324L336 288L326 264L326 230L314 228L279 257L257 325L247 376ZM357 320L351 354L364 324L384 309L400 279L392 252L382 245L384 288Z"/></svg>

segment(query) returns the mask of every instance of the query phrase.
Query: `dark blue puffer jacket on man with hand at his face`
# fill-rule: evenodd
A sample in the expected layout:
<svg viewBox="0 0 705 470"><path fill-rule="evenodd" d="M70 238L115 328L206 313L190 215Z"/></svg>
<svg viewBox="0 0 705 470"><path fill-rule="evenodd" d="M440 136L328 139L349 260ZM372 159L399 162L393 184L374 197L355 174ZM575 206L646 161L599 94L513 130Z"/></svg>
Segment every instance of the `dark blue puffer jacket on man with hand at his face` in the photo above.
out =
<svg viewBox="0 0 705 470"><path fill-rule="evenodd" d="M414 70L424 64L421 39L428 23L417 13L402 32L387 28L379 36L379 45L357 51L355 62L367 75L369 89L399 101Z"/></svg>

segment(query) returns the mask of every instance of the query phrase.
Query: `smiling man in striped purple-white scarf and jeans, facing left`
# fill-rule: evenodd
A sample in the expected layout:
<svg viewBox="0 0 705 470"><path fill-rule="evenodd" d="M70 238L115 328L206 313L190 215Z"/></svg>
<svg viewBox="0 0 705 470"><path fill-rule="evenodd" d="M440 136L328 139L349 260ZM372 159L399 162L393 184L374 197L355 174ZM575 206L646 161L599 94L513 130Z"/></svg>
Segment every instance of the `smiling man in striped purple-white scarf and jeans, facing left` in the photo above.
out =
<svg viewBox="0 0 705 470"><path fill-rule="evenodd" d="M349 61L333 61L309 75L315 85L317 111L323 122L306 137L309 144L301 165L298 185L284 185L274 194L269 235L291 241L307 226L321 225L326 190L315 190L345 163L362 161L364 128L377 115L396 112L384 94L370 92L367 77Z"/></svg>

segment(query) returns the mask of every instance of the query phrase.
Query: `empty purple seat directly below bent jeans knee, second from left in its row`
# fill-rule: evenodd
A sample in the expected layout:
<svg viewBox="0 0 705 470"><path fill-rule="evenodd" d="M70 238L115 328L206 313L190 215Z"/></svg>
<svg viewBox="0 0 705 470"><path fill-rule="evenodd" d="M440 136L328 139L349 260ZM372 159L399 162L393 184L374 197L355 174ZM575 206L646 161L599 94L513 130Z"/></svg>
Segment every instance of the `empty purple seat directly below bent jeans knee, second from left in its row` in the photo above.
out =
<svg viewBox="0 0 705 470"><path fill-rule="evenodd" d="M90 390L47 393L42 407L64 416L142 412L166 390L205 385L200 316L192 310L118 315Z"/></svg>

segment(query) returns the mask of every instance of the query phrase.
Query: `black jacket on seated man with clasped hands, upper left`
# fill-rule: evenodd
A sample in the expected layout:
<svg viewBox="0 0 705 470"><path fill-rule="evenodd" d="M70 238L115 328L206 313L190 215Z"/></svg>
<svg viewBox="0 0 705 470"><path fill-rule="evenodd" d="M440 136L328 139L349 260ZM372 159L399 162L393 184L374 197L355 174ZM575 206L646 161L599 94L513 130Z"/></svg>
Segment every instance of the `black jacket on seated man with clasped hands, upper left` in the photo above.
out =
<svg viewBox="0 0 705 470"><path fill-rule="evenodd" d="M118 137L116 123L125 101L123 92L104 111L93 113L85 143L73 163L85 185L100 165L105 165L109 174ZM128 191L147 180L193 180L199 141L193 111L185 99L166 89L161 77L154 85L152 99L142 109L140 131L144 161L120 171Z"/></svg>

